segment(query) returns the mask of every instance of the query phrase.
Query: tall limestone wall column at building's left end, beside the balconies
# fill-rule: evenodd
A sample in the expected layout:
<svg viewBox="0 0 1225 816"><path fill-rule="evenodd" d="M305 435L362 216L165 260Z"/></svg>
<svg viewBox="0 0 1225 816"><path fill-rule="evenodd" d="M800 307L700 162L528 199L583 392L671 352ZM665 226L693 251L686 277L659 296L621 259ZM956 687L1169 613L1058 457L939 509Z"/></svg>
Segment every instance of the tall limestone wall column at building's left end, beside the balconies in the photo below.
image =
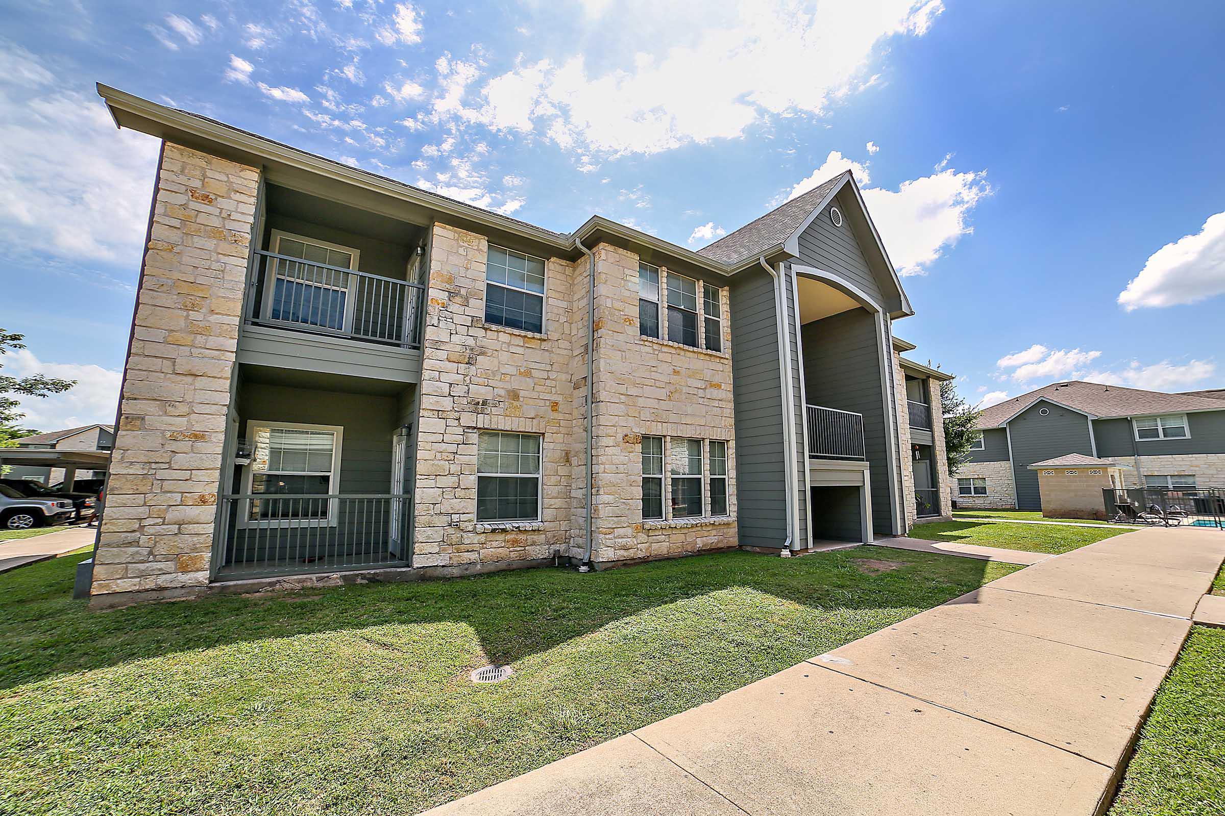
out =
<svg viewBox="0 0 1225 816"><path fill-rule="evenodd" d="M208 582L260 171L165 143L94 595Z"/></svg>

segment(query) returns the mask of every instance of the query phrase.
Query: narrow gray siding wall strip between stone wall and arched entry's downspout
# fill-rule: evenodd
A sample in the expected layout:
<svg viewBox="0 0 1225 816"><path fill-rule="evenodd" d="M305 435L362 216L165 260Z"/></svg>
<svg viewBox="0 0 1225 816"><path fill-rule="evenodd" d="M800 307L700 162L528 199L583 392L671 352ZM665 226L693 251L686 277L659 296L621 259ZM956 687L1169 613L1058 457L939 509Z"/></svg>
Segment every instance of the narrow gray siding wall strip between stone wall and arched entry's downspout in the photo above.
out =
<svg viewBox="0 0 1225 816"><path fill-rule="evenodd" d="M730 296L740 543L782 547L786 482L773 280L764 270L747 269L731 279Z"/></svg>

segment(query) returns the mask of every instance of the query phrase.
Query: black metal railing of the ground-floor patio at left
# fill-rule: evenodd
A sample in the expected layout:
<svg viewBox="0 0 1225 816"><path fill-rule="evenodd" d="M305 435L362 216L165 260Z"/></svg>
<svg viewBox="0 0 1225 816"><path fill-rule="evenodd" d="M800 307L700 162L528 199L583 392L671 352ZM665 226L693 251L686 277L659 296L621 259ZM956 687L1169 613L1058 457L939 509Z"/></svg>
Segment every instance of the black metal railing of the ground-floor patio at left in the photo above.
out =
<svg viewBox="0 0 1225 816"><path fill-rule="evenodd" d="M408 493L223 495L218 577L408 566Z"/></svg>

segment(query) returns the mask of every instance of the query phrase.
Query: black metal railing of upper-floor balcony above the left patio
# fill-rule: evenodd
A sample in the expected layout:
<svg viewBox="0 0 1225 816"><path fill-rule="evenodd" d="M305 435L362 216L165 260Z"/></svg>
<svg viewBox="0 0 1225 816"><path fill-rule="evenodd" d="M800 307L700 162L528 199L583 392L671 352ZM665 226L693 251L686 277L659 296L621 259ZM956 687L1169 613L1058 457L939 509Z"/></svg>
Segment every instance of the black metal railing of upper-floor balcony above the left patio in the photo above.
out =
<svg viewBox="0 0 1225 816"><path fill-rule="evenodd" d="M249 322L421 347L425 286L260 250L255 264Z"/></svg>

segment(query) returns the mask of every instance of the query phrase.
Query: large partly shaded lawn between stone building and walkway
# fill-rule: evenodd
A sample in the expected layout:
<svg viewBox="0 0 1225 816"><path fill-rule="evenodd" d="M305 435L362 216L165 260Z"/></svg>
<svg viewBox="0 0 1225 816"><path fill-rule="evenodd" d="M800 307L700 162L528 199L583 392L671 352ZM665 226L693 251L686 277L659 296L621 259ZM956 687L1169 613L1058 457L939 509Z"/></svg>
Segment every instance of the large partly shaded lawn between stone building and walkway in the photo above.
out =
<svg viewBox="0 0 1225 816"><path fill-rule="evenodd" d="M78 560L0 576L0 814L413 814L1017 569L723 553L88 612Z"/></svg>

